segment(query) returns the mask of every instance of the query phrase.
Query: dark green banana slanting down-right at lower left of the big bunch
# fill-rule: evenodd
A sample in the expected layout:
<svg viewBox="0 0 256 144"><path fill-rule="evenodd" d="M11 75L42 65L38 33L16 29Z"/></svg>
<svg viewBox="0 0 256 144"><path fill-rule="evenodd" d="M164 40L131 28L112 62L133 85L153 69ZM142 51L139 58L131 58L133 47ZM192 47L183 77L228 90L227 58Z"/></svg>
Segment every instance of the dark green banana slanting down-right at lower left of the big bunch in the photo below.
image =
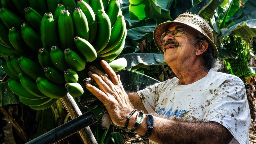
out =
<svg viewBox="0 0 256 144"><path fill-rule="evenodd" d="M18 61L19 61L19 66L21 67L23 72L25 72L33 80L36 80L38 77L45 77L45 74L42 71L42 68L38 64L36 64L34 61L24 56L20 56Z"/></svg>

